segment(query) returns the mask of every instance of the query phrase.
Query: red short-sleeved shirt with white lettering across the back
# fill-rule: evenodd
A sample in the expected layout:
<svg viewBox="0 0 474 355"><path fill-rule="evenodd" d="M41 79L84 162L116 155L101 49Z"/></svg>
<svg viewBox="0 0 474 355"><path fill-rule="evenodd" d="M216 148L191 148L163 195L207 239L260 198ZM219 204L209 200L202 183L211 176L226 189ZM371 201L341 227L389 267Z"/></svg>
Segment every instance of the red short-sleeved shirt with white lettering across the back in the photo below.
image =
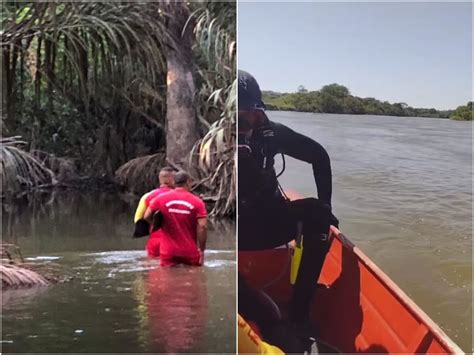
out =
<svg viewBox="0 0 474 355"><path fill-rule="evenodd" d="M150 208L163 213L160 255L199 257L197 220L206 217L204 202L183 188L176 188L155 197Z"/></svg>

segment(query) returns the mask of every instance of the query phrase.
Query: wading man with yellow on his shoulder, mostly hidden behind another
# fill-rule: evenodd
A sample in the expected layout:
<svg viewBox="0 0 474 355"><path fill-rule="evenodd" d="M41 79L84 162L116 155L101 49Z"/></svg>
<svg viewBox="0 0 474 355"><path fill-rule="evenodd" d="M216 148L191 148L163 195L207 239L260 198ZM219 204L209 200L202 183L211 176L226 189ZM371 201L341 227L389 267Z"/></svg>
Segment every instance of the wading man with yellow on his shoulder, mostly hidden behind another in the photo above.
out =
<svg viewBox="0 0 474 355"><path fill-rule="evenodd" d="M160 170L158 175L158 181L160 186L150 192L144 194L140 202L138 203L137 210L135 211L135 232L134 237L144 237L150 235L146 243L146 251L148 256L156 258L160 255L160 235L161 231L158 229L151 233L150 225L143 219L146 209L150 205L150 202L158 195L171 191L174 188L174 174L173 168L164 167Z"/></svg>

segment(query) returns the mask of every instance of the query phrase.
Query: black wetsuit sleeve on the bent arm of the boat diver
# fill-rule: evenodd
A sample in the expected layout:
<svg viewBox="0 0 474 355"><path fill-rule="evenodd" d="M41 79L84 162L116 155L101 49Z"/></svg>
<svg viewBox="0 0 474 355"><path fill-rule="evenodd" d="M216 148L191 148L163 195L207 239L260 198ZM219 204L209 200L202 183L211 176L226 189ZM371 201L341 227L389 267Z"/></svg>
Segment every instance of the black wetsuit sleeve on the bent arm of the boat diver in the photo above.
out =
<svg viewBox="0 0 474 355"><path fill-rule="evenodd" d="M296 133L282 124L275 122L273 124L278 151L313 165L318 198L331 206L332 172L326 149L315 140Z"/></svg>

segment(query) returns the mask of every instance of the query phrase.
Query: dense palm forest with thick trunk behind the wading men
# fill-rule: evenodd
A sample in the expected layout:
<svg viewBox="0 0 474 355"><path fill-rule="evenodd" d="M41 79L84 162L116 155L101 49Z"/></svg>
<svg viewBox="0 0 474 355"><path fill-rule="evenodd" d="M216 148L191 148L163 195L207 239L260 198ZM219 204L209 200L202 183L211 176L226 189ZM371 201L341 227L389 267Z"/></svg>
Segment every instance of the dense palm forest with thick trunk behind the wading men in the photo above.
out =
<svg viewBox="0 0 474 355"><path fill-rule="evenodd" d="M4 4L3 194L66 177L142 193L172 165L216 184L198 184L210 200L233 201L221 188L233 169L216 177L188 162L233 164L221 153L235 141L235 15L234 2ZM211 153L201 151L210 132ZM214 214L233 211L223 206Z"/></svg>

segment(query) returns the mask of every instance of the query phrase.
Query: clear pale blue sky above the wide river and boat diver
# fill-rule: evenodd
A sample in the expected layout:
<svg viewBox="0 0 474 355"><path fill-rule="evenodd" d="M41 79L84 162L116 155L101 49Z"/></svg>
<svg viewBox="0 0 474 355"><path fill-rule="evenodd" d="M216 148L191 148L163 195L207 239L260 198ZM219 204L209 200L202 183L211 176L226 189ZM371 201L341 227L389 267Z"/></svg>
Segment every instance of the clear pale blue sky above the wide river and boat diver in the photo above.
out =
<svg viewBox="0 0 474 355"><path fill-rule="evenodd" d="M238 5L238 66L263 90L338 83L414 107L472 100L472 4Z"/></svg>

